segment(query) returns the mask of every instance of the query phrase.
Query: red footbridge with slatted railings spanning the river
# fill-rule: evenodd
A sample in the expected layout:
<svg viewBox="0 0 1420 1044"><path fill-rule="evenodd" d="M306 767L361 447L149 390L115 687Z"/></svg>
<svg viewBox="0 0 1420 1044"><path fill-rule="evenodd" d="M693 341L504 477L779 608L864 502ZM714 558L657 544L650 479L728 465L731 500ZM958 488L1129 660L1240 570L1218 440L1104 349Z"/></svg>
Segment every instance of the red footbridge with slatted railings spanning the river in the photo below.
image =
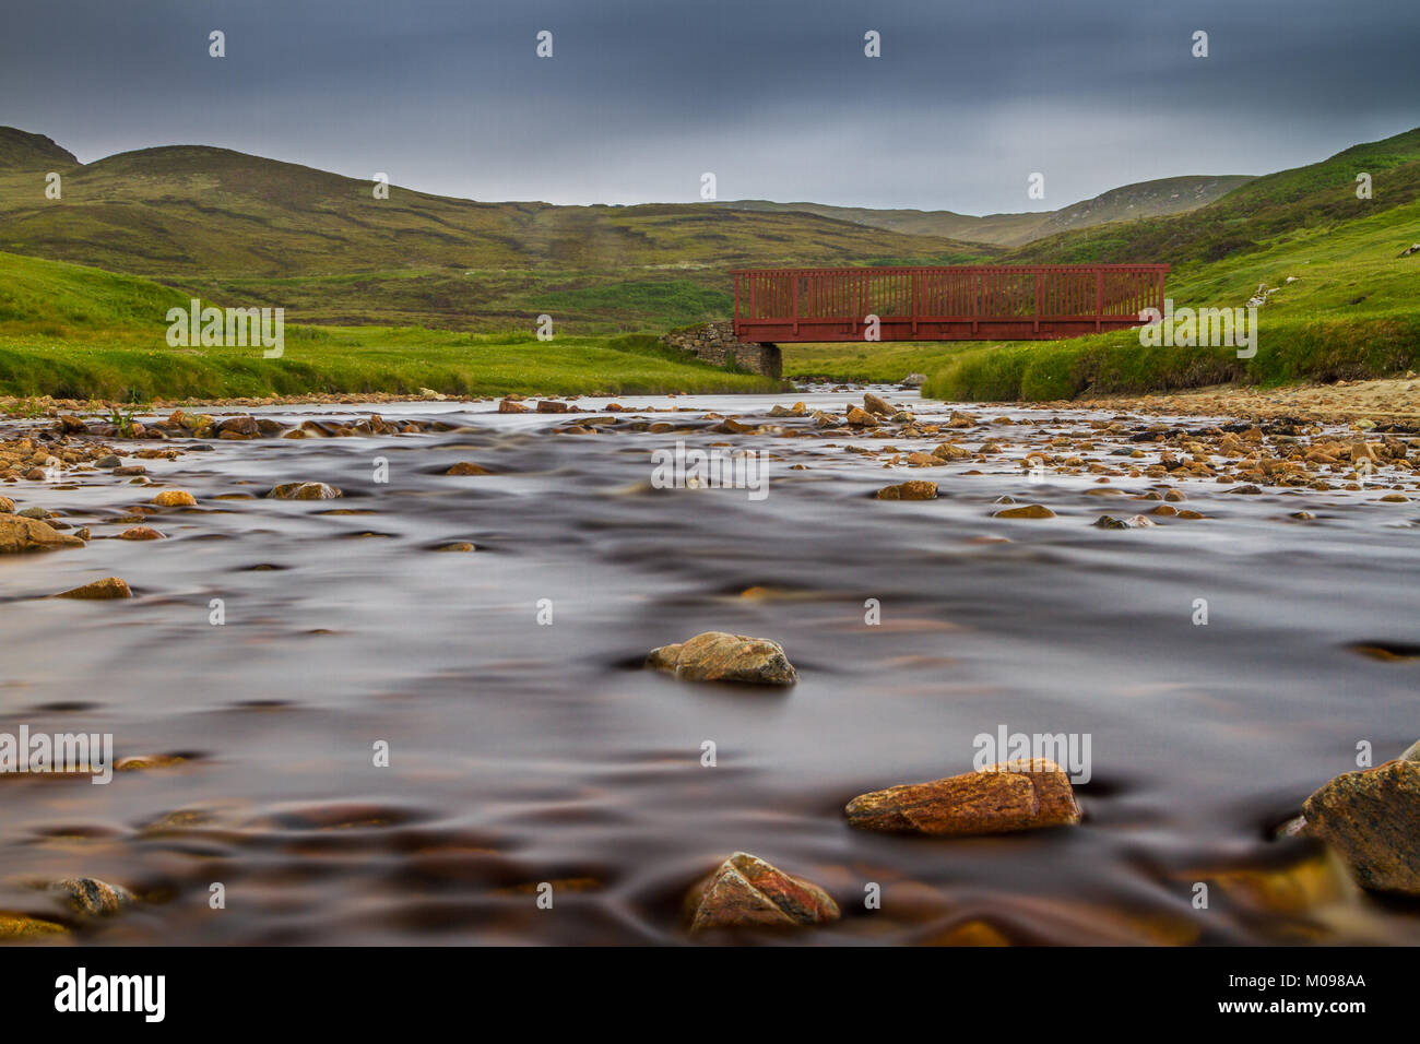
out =
<svg viewBox="0 0 1420 1044"><path fill-rule="evenodd" d="M738 268L741 341L1047 341L1163 311L1167 264Z"/></svg>

